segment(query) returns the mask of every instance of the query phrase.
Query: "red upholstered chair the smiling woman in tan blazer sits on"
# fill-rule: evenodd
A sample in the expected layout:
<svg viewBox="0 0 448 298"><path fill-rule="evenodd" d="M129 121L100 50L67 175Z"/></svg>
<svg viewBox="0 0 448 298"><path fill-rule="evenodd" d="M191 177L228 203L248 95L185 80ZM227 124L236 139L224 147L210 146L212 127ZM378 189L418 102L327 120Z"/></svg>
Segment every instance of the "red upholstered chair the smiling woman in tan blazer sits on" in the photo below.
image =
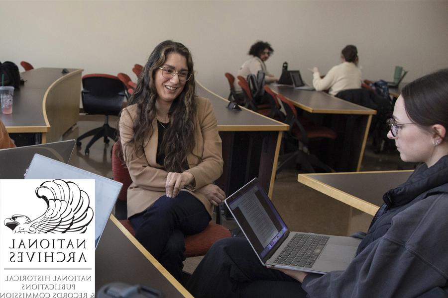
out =
<svg viewBox="0 0 448 298"><path fill-rule="evenodd" d="M126 166L121 163L118 159L117 151L120 149L120 143L116 142L112 146L112 174L113 179L123 183L123 187L118 195L118 199L126 201L127 188L132 182L129 175L129 171ZM217 215L219 216L219 215ZM119 221L132 235L135 236L135 231L130 224L129 220ZM210 222L209 225L200 233L194 235L185 236L185 256L197 257L202 256L207 253L207 251L212 247L213 243L219 239L231 237L230 232L221 224L215 224Z"/></svg>

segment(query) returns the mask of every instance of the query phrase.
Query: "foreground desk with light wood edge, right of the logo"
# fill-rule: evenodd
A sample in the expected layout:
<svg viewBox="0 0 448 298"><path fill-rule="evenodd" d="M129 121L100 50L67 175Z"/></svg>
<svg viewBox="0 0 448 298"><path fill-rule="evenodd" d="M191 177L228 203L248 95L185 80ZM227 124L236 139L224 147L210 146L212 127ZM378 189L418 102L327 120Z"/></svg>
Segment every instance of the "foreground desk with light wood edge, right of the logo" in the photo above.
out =
<svg viewBox="0 0 448 298"><path fill-rule="evenodd" d="M148 286L164 297L193 296L111 215L95 251L95 292L122 282Z"/></svg>

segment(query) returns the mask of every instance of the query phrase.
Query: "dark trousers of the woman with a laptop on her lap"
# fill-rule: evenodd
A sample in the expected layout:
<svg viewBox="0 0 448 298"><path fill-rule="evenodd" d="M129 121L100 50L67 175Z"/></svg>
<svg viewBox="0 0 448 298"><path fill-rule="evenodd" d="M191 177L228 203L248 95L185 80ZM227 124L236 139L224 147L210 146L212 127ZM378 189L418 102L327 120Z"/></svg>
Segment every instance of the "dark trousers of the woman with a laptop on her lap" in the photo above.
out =
<svg viewBox="0 0 448 298"><path fill-rule="evenodd" d="M195 298L305 298L302 284L264 267L245 238L217 241L187 284Z"/></svg>

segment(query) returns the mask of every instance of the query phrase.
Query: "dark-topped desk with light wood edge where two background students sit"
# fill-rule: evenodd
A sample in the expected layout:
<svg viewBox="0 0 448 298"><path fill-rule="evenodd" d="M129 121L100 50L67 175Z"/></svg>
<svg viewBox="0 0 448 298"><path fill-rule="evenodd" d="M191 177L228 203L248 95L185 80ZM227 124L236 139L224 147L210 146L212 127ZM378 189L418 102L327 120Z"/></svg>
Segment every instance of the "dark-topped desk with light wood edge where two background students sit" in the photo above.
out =
<svg viewBox="0 0 448 298"><path fill-rule="evenodd" d="M331 114L331 128L338 135L332 145L330 163L336 171L359 171L365 143L375 110L345 101L325 92L299 90L292 86L271 84L270 88L284 95L298 108L311 114Z"/></svg>

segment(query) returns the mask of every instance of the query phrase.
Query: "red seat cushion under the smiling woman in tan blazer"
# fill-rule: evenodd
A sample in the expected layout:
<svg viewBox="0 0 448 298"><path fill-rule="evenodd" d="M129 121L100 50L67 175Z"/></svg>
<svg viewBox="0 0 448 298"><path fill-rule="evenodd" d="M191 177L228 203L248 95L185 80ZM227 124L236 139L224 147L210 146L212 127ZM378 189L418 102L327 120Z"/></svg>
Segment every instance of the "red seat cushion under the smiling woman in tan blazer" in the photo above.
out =
<svg viewBox="0 0 448 298"><path fill-rule="evenodd" d="M135 231L129 220L119 221L133 236ZM203 256L209 251L213 243L222 238L231 237L230 232L221 224L210 222L209 225L200 233L188 235L185 237L185 257Z"/></svg>

